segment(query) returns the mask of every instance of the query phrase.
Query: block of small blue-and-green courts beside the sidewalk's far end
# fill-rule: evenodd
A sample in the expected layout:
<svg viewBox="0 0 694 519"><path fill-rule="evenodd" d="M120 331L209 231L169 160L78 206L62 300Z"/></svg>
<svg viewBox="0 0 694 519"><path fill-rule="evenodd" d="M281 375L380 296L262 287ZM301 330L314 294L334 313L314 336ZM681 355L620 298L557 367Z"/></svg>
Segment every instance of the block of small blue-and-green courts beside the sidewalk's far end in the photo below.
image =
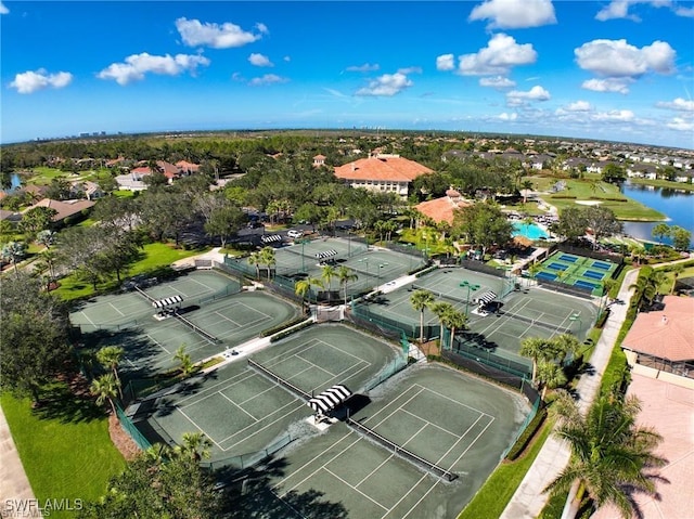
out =
<svg viewBox="0 0 694 519"><path fill-rule="evenodd" d="M536 277L554 281L591 290L594 296L602 295L602 282L612 277L617 269L615 263L584 256L556 251L541 263Z"/></svg>

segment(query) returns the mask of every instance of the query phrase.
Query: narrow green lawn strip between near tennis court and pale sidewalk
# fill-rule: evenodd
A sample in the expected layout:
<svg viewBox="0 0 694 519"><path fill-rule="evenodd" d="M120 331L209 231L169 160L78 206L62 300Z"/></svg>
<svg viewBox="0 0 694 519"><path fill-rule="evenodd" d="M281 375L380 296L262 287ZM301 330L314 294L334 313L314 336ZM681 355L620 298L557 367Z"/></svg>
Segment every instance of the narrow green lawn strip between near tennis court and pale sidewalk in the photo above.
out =
<svg viewBox="0 0 694 519"><path fill-rule="evenodd" d="M549 438L552 431L551 425L550 420L545 420L537 438L522 457L513 463L502 463L494 470L483 488L475 494L473 501L458 516L458 519L496 519L501 517L520 481L530 469L530 465L532 465Z"/></svg>

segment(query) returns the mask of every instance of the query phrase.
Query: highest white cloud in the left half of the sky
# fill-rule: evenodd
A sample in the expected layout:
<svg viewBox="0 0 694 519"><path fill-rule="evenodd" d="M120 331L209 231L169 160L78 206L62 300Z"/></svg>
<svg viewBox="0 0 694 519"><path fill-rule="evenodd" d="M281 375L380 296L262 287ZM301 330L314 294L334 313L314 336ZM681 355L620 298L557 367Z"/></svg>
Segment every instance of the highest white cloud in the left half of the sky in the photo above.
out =
<svg viewBox="0 0 694 519"><path fill-rule="evenodd" d="M207 46L213 49L229 49L231 47L243 47L259 40L267 34L268 28L262 24L256 24L258 34L243 30L237 25L231 23L208 24L198 20L178 18L176 21L183 42L189 47Z"/></svg>

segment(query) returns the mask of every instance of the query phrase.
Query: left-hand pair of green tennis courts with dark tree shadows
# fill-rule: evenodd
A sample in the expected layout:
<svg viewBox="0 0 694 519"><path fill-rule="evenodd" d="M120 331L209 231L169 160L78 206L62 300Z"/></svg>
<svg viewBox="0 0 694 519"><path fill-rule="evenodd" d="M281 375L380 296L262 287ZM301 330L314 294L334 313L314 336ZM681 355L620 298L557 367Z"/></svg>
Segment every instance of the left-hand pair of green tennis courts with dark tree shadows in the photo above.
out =
<svg viewBox="0 0 694 519"><path fill-rule="evenodd" d="M193 272L184 281L188 287L196 288L201 278L209 281L215 276L226 280L211 272ZM192 361L197 362L299 315L297 307L258 291L234 290L223 295L226 289L216 286L214 291L198 289L196 296L189 298L192 293L183 293L181 282L179 277L146 288L151 298L153 295L170 297L177 291L187 294L177 314L162 316L151 300L129 291L94 298L73 312L70 321L82 330L86 346L99 349L113 345L125 349L121 373L128 379L145 378L176 367L179 362L174 355L181 345L185 345ZM230 290L233 289L232 285ZM189 304L190 300L200 304Z"/></svg>

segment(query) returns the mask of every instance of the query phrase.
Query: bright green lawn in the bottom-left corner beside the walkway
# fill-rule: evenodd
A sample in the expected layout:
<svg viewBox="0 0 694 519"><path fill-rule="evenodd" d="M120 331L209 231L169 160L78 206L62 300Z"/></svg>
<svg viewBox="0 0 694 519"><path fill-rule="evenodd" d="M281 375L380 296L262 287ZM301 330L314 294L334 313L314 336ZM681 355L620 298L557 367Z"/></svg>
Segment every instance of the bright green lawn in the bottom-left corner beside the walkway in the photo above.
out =
<svg viewBox="0 0 694 519"><path fill-rule="evenodd" d="M70 394L66 387L64 392ZM104 493L108 479L125 467L102 413L99 417L75 413L70 420L65 410L81 404L67 400L62 417L44 418L33 411L28 399L3 393L0 403L24 470L40 502L97 499ZM74 511L51 511L51 517L74 515Z"/></svg>

